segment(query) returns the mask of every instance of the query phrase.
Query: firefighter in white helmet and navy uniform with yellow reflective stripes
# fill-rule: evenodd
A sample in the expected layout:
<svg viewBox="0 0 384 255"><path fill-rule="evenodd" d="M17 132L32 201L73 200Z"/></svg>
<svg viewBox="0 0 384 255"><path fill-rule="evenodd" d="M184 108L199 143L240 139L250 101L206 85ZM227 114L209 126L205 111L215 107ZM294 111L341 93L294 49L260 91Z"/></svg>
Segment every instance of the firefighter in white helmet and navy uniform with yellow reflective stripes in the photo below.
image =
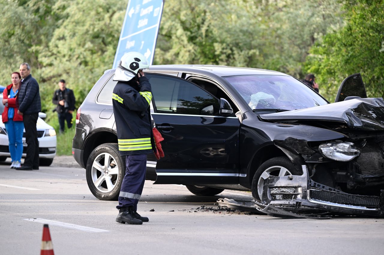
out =
<svg viewBox="0 0 384 255"><path fill-rule="evenodd" d="M149 105L151 84L142 69L148 60L139 52L128 52L121 57L113 80L117 80L113 94L113 112L118 132L119 152L126 157L126 173L119 194L117 222L142 224L147 217L137 213L145 176L147 154L156 150L151 127Z"/></svg>

